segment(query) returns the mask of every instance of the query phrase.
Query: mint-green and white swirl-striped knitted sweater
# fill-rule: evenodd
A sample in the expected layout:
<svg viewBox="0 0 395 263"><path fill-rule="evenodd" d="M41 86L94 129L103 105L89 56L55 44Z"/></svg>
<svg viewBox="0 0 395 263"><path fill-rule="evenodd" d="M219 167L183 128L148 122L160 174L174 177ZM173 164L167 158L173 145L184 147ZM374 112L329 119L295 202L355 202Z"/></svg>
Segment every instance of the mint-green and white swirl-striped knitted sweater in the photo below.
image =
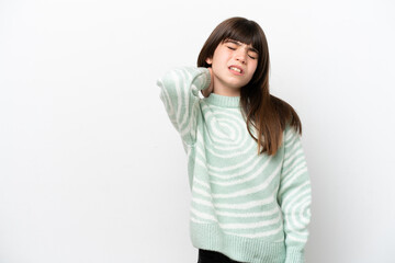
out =
<svg viewBox="0 0 395 263"><path fill-rule="evenodd" d="M210 82L196 67L157 80L188 158L192 244L240 262L304 262L312 196L300 135L286 126L276 155L258 156L240 98L203 98Z"/></svg>

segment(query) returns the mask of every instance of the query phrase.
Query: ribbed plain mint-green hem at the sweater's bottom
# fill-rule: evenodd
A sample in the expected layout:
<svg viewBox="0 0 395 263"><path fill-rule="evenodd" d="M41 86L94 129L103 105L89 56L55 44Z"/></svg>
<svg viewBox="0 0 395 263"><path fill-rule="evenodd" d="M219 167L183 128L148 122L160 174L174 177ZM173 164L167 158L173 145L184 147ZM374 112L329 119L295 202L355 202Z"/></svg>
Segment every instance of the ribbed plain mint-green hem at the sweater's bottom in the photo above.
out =
<svg viewBox="0 0 395 263"><path fill-rule="evenodd" d="M285 243L225 233L216 224L190 221L193 247L217 251L235 261L248 263L284 263Z"/></svg>

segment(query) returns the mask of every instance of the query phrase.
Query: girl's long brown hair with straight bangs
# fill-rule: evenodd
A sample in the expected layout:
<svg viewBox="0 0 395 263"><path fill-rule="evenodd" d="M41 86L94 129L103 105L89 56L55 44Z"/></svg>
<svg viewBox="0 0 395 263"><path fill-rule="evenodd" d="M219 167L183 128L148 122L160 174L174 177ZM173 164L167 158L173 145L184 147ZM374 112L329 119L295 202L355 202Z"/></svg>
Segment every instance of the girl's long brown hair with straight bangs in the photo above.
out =
<svg viewBox="0 0 395 263"><path fill-rule="evenodd" d="M283 130L289 124L302 135L302 123L295 110L269 92L269 47L263 30L255 21L230 18L217 25L204 43L198 57L198 67L211 67L212 58L219 43L235 39L258 50L258 66L248 84L240 90L240 108L250 136L258 142L258 155L274 156L281 147ZM250 125L258 130L256 138ZM261 150L262 148L262 150Z"/></svg>

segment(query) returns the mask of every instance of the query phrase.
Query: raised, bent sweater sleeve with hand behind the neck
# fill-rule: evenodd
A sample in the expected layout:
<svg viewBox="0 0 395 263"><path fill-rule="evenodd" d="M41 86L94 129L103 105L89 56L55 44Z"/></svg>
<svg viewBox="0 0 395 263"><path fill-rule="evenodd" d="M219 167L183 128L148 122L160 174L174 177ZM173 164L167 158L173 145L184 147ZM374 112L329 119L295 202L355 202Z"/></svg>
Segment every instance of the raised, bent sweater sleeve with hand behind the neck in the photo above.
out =
<svg viewBox="0 0 395 263"><path fill-rule="evenodd" d="M184 147L195 142L199 92L208 88L210 83L211 75L204 67L176 68L157 80L159 98Z"/></svg>

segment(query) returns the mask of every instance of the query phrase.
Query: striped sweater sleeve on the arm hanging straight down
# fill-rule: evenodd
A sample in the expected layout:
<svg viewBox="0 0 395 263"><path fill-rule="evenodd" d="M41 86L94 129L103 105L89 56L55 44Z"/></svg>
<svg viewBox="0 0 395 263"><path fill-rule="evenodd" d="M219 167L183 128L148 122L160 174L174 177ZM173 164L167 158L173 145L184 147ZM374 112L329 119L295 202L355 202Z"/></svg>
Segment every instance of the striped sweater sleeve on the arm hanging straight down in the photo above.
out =
<svg viewBox="0 0 395 263"><path fill-rule="evenodd" d="M312 188L301 136L289 125L284 133L284 161L278 199L284 222L285 263L303 263L309 235Z"/></svg>

